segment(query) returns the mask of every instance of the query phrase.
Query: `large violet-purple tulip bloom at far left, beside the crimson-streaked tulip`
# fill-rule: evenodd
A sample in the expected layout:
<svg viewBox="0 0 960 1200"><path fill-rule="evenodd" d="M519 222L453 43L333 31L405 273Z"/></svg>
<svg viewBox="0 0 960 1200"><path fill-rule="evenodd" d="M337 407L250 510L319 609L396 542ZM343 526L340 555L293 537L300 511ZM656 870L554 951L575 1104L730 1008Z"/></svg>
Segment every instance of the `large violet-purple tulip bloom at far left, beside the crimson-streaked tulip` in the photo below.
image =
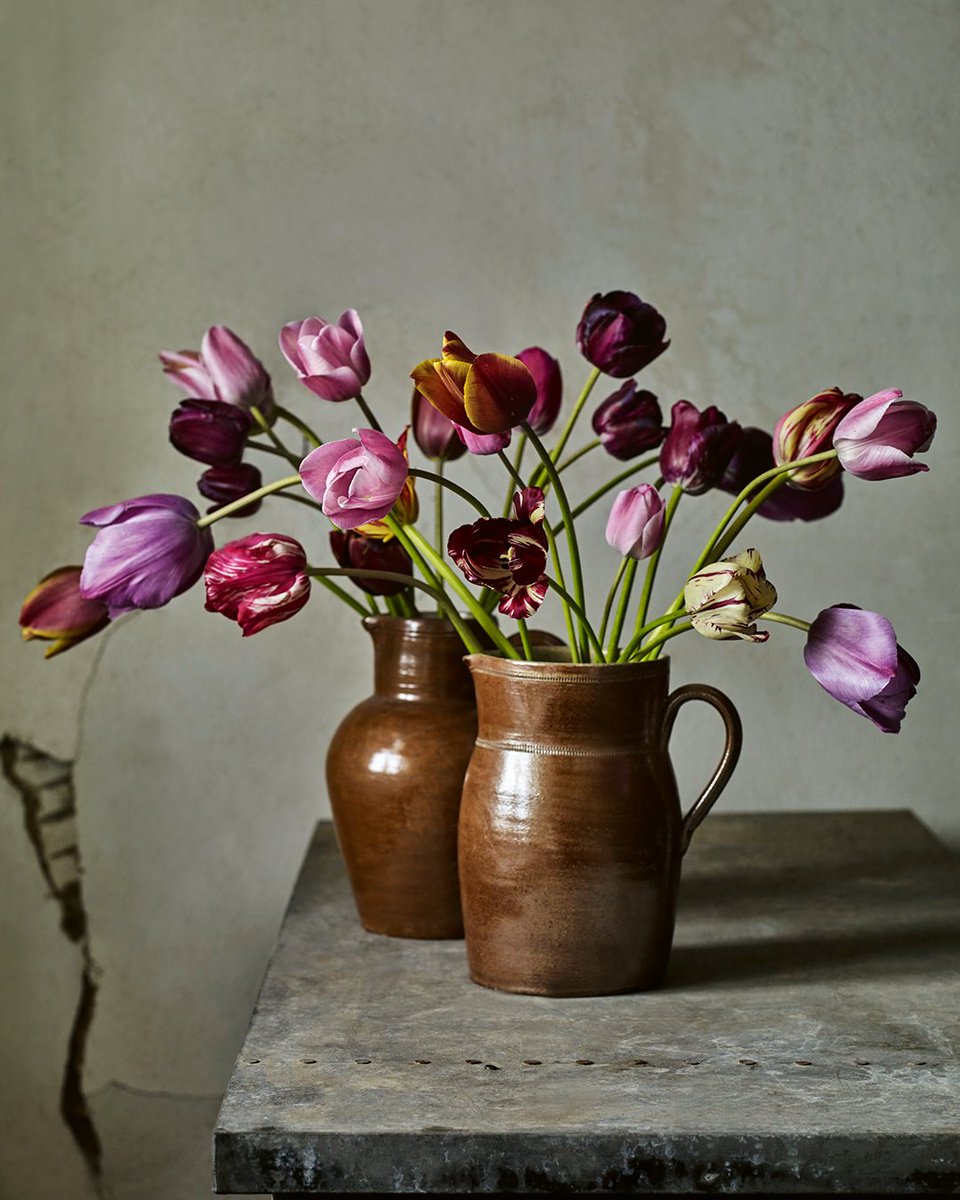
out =
<svg viewBox="0 0 960 1200"><path fill-rule="evenodd" d="M209 528L182 496L140 496L80 517L98 533L88 547L80 594L102 600L112 618L160 608L193 587L214 548Z"/></svg>

